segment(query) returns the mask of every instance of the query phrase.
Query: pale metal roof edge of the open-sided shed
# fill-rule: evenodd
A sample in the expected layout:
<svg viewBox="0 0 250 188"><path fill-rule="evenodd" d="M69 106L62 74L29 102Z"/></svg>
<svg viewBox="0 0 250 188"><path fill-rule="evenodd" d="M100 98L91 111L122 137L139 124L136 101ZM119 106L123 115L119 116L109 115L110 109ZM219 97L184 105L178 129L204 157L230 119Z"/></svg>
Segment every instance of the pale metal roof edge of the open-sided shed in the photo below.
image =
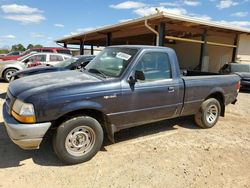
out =
<svg viewBox="0 0 250 188"><path fill-rule="evenodd" d="M59 43L60 42L67 42L67 41L70 41L71 39L75 39L75 38L84 38L85 36L90 35L90 34L103 34L105 32L112 32L112 31L116 31L116 29L119 27L126 27L126 26L137 24L137 23L139 24L145 20L149 20L149 21L162 20L162 21L164 21L164 19L167 19L168 21L179 21L179 22L195 24L195 25L199 25L199 26L203 26L203 27L218 28L221 30L227 30L227 31L231 31L231 32L249 33L250 34L250 29L246 29L246 28L242 28L242 27L223 24L223 23L216 22L216 21L204 20L204 19L200 19L200 18L196 18L196 17L176 15L176 14L171 14L171 13L166 13L166 12L159 12L157 14L129 20L126 22L122 22L122 23L118 23L118 24L114 24L114 25L110 25L110 26L101 27L101 28L94 29L91 31L82 32L82 33L79 33L76 35L63 37L63 38L56 40L55 42L59 42Z"/></svg>

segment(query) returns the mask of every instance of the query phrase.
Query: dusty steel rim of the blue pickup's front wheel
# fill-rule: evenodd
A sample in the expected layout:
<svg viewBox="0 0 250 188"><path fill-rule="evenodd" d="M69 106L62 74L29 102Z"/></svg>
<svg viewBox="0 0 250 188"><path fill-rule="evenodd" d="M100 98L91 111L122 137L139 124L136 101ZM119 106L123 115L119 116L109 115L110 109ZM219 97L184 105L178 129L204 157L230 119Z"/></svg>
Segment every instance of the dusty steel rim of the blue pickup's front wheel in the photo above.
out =
<svg viewBox="0 0 250 188"><path fill-rule="evenodd" d="M79 126L74 128L65 140L65 148L68 153L79 157L87 154L94 146L96 134L88 126Z"/></svg>

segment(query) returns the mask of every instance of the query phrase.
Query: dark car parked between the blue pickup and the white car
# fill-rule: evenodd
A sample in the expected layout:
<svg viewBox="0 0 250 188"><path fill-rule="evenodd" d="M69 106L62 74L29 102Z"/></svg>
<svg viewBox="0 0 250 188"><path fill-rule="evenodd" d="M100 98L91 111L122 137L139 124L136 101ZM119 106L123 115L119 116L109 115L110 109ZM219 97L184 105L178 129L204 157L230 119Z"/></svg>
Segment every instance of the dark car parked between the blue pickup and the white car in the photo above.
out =
<svg viewBox="0 0 250 188"><path fill-rule="evenodd" d="M59 72L66 70L75 70L85 67L95 56L93 55L82 55L75 56L65 61L61 61L54 66L38 66L30 69L24 69L17 71L12 75L11 80L23 78L25 76L31 76L35 74L48 73L48 72Z"/></svg>

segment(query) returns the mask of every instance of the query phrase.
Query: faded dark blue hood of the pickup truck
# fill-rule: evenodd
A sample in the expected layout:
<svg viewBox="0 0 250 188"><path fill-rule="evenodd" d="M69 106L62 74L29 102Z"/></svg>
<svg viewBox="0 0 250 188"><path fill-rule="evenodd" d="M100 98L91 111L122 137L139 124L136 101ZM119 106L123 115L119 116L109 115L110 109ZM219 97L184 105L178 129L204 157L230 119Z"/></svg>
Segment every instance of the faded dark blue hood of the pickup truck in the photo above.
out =
<svg viewBox="0 0 250 188"><path fill-rule="evenodd" d="M14 97L25 99L42 93L49 95L53 91L60 94L58 90L70 90L72 87L77 88L83 84L93 84L93 82L100 81L101 79L80 71L62 71L37 74L15 80L10 83L9 91Z"/></svg>

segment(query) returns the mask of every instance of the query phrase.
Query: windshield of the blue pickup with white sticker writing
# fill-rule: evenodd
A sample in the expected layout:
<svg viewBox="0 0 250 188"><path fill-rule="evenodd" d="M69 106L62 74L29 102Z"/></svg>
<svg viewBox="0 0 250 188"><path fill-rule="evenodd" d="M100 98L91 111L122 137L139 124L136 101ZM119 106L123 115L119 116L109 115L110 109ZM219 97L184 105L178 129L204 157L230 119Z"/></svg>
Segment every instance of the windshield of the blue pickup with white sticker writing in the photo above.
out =
<svg viewBox="0 0 250 188"><path fill-rule="evenodd" d="M119 77L137 53L137 49L109 47L102 50L85 68L88 72Z"/></svg>

